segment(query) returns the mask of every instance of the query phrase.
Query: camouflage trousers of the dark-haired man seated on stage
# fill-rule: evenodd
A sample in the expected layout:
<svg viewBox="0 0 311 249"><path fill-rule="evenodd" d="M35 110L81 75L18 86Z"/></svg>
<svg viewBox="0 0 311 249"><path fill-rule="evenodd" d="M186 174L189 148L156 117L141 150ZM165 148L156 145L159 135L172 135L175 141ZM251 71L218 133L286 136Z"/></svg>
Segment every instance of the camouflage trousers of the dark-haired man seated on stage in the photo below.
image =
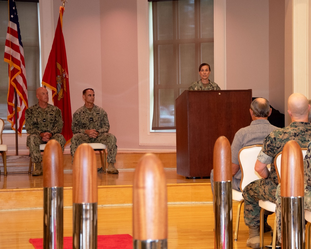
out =
<svg viewBox="0 0 311 249"><path fill-rule="evenodd" d="M99 134L97 138L90 138L87 134L77 133L71 139L70 153L73 159L76 149L81 143L103 143L107 145L107 162L115 163L117 155L116 142L116 137L110 133Z"/></svg>

